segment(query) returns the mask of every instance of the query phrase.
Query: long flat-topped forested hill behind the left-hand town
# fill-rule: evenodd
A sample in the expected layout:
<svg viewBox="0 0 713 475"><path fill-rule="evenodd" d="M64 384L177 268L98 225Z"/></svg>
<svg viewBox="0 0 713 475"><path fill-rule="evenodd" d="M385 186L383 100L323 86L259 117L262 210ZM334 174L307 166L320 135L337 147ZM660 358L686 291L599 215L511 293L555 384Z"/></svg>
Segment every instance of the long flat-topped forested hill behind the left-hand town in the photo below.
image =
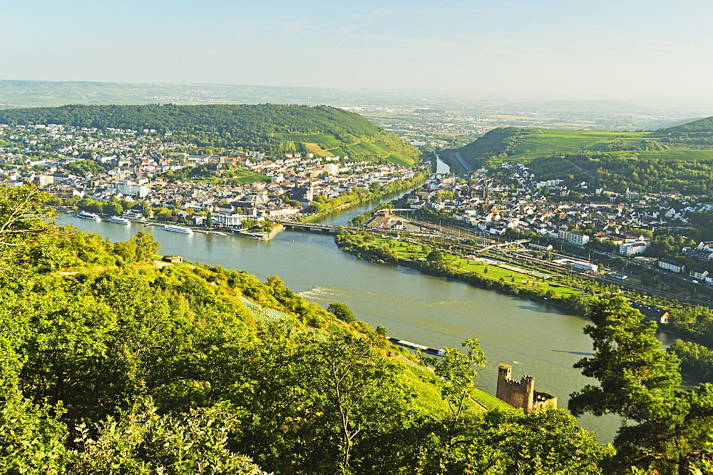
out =
<svg viewBox="0 0 713 475"><path fill-rule="evenodd" d="M328 106L70 105L0 110L0 123L155 129L171 140L210 148L210 153L255 150L275 158L284 151L413 164L419 150L359 114Z"/></svg>

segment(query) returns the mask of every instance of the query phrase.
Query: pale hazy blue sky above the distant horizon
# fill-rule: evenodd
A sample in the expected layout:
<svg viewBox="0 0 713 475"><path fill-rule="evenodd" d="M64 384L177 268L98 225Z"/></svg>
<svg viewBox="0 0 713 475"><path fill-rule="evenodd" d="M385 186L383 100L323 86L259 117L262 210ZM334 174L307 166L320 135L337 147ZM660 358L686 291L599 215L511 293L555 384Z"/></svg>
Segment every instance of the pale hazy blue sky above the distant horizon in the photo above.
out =
<svg viewBox="0 0 713 475"><path fill-rule="evenodd" d="M713 2L5 1L0 78L713 97Z"/></svg>

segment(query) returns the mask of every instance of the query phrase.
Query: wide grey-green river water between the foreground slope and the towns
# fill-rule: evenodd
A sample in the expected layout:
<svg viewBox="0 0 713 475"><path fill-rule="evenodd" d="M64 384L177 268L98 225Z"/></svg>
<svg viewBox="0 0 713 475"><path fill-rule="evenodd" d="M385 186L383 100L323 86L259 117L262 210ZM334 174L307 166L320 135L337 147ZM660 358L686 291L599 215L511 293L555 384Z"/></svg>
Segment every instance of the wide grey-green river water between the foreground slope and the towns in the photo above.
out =
<svg viewBox="0 0 713 475"><path fill-rule="evenodd" d="M373 207L374 203L364 203L332 215L329 223L345 224ZM359 260L341 252L332 235L284 231L265 242L168 233L155 226L97 223L68 215L59 216L57 222L115 242L148 231L160 242L162 254L245 270L261 280L277 275L308 300L324 306L344 302L359 320L374 327L383 325L389 336L428 347L460 347L463 340L477 337L488 364L476 384L491 394L495 394L499 363L513 366L513 378L523 374L535 377L535 389L557 396L559 407L567 407L568 394L594 382L572 367L592 354L591 340L582 332L587 325L584 318L405 267ZM584 416L580 425L597 431L601 441L611 441L618 422L614 417Z"/></svg>

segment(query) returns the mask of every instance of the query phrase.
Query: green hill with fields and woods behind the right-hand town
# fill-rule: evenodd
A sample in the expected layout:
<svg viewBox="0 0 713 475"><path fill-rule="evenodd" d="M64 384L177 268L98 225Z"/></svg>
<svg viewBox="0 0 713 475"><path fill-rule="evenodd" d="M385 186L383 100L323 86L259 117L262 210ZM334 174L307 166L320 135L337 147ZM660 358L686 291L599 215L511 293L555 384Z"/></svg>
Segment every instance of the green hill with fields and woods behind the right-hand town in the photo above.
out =
<svg viewBox="0 0 713 475"><path fill-rule="evenodd" d="M496 128L459 148L473 168L527 162L538 180L624 193L713 190L713 117L652 132Z"/></svg>

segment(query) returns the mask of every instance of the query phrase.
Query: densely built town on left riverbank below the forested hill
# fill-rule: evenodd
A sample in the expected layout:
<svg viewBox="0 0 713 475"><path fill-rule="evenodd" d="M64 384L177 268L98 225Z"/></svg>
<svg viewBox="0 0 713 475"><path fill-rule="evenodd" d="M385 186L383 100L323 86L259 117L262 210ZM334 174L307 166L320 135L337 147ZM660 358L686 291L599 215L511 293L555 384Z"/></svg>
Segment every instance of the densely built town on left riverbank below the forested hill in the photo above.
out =
<svg viewBox="0 0 713 475"><path fill-rule="evenodd" d="M62 203L96 213L239 230L246 222L302 218L354 190L388 189L417 173L313 153L199 155L205 150L175 143L171 135L3 124L0 183L32 182Z"/></svg>

